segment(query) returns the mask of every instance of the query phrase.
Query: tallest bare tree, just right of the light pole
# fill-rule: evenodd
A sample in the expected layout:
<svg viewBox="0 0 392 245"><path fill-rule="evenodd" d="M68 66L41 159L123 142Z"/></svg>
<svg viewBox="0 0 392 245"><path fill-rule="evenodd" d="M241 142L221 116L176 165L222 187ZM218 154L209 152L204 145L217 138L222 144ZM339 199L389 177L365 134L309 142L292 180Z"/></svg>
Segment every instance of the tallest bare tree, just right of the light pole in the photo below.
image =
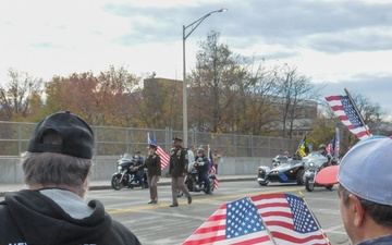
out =
<svg viewBox="0 0 392 245"><path fill-rule="evenodd" d="M232 121L233 105L237 100L238 81L245 72L238 57L228 46L219 44L219 33L210 32L200 41L196 56L196 69L188 76L189 121L198 131L225 131Z"/></svg>

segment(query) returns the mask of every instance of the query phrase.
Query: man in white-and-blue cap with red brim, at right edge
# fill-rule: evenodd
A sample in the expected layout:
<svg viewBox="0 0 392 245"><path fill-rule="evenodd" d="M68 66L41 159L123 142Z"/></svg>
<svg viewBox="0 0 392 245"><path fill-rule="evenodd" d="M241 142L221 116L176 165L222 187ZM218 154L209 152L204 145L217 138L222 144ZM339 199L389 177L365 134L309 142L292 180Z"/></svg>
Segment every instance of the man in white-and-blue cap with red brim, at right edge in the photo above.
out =
<svg viewBox="0 0 392 245"><path fill-rule="evenodd" d="M340 211L352 244L392 244L392 138L360 140L342 159L338 176L323 173L320 179L340 183Z"/></svg>

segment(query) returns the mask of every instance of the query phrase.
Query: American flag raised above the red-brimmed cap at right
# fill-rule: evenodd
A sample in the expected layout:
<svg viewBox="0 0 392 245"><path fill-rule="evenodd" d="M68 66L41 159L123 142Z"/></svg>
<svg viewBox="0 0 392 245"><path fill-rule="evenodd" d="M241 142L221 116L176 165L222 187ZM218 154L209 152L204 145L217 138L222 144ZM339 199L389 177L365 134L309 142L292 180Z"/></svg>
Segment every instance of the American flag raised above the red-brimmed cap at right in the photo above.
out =
<svg viewBox="0 0 392 245"><path fill-rule="evenodd" d="M363 124L348 96L326 97L339 120L359 139L371 136L369 128Z"/></svg>

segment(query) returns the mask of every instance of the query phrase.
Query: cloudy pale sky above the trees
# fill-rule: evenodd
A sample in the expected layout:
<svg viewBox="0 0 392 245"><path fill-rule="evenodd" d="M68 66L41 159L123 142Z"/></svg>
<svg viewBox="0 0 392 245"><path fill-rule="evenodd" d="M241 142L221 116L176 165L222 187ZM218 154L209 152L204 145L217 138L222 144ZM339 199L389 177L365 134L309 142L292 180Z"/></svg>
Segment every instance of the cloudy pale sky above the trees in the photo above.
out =
<svg viewBox="0 0 392 245"><path fill-rule="evenodd" d="M0 77L50 79L123 65L182 79L210 30L236 54L295 65L323 95L360 93L392 114L392 0L0 0Z"/></svg>

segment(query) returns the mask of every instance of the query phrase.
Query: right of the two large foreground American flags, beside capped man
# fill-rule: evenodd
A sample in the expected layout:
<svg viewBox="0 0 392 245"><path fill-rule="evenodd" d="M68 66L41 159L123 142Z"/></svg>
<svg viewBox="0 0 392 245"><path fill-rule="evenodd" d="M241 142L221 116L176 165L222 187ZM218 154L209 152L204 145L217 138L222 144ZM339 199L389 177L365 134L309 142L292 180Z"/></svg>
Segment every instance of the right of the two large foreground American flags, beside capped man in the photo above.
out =
<svg viewBox="0 0 392 245"><path fill-rule="evenodd" d="M250 199L278 244L331 244L304 199L291 194L265 194Z"/></svg>

